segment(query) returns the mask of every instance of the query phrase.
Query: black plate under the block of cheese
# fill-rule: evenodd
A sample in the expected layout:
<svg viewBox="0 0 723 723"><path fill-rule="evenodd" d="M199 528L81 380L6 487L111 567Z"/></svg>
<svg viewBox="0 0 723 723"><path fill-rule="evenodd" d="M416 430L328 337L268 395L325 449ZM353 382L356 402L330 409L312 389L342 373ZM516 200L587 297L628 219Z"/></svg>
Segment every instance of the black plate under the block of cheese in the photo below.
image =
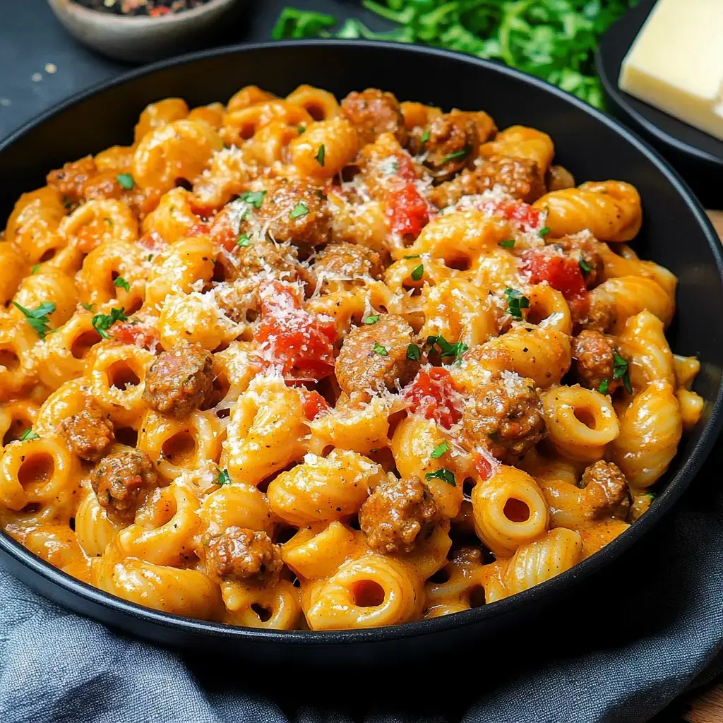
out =
<svg viewBox="0 0 723 723"><path fill-rule="evenodd" d="M595 66L610 112L662 153L706 208L723 208L723 141L659 111L617 87L620 67L654 0L643 0L603 35Z"/></svg>

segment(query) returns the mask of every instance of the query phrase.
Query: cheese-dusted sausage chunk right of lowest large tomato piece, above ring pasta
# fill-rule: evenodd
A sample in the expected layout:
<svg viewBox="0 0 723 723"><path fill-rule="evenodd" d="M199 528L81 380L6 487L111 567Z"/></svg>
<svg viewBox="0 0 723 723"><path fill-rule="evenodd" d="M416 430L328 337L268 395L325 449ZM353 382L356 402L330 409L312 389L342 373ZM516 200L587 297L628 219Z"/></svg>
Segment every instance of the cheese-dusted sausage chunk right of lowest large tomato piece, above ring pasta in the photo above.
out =
<svg viewBox="0 0 723 723"><path fill-rule="evenodd" d="M471 445L482 445L504 463L518 461L545 435L534 382L508 371L474 390L462 423Z"/></svg>

